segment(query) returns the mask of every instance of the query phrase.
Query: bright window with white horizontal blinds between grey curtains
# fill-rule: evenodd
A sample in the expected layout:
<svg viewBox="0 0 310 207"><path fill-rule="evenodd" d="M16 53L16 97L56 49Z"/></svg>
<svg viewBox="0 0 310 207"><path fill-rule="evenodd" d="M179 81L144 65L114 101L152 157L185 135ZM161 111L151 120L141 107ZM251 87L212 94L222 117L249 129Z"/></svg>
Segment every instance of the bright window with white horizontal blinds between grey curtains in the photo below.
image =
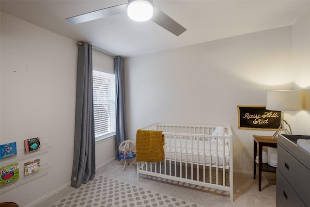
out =
<svg viewBox="0 0 310 207"><path fill-rule="evenodd" d="M95 140L115 134L115 76L93 69Z"/></svg>

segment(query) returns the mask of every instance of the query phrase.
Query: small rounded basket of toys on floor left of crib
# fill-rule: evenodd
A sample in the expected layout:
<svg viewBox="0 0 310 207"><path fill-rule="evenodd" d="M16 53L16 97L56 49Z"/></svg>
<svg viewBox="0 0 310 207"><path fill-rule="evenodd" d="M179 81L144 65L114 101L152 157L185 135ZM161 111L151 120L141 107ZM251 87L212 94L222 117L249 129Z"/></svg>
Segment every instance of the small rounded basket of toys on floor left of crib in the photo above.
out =
<svg viewBox="0 0 310 207"><path fill-rule="evenodd" d="M119 158L121 158L118 165L124 164L123 171L125 169L126 163L127 165L135 165L136 159L134 158L136 157L136 143L131 140L123 141L118 147L118 154Z"/></svg>

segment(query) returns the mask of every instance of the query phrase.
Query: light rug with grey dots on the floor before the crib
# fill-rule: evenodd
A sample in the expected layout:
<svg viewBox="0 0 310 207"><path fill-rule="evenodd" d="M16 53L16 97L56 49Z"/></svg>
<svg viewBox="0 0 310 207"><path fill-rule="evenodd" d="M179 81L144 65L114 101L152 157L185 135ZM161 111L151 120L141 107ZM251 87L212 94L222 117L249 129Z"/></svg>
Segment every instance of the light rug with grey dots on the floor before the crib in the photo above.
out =
<svg viewBox="0 0 310 207"><path fill-rule="evenodd" d="M51 207L198 207L198 205L100 175Z"/></svg>

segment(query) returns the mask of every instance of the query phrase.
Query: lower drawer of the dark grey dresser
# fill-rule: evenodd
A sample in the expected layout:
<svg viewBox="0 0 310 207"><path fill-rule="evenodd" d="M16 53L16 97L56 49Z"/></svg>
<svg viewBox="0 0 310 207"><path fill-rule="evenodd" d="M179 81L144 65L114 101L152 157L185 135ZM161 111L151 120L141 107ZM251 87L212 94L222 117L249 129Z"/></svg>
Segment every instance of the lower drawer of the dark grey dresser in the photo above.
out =
<svg viewBox="0 0 310 207"><path fill-rule="evenodd" d="M277 199L283 207L306 207L277 169ZM281 206L279 205L279 206ZM278 207L278 201L277 201Z"/></svg>

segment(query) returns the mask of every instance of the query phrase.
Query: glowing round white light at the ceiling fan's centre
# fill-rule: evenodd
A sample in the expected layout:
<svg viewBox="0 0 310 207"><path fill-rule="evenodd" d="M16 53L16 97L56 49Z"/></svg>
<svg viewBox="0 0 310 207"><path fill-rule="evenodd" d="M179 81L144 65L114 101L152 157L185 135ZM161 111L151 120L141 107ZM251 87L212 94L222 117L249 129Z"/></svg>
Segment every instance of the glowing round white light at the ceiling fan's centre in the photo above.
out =
<svg viewBox="0 0 310 207"><path fill-rule="evenodd" d="M146 21L153 16L150 0L134 0L128 4L127 15L135 21Z"/></svg>

